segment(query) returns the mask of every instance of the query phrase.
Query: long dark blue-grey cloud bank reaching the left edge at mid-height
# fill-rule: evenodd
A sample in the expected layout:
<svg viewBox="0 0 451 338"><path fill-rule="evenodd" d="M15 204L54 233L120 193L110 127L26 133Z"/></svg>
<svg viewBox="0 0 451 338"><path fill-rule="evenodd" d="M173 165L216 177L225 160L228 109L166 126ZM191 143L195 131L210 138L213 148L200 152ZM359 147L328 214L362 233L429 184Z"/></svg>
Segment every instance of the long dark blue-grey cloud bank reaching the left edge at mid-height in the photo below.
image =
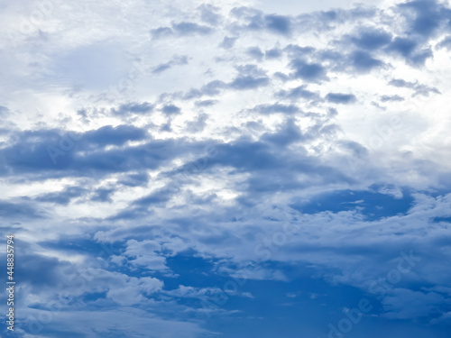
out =
<svg viewBox="0 0 451 338"><path fill-rule="evenodd" d="M178 112L177 107L167 105L167 114ZM175 155L173 141L152 141L141 128L119 125L106 125L94 131L78 134L73 141L61 139L63 132L41 131L21 132L14 136L21 142L15 142L0 151L5 161L3 170L12 170L15 174L42 177L108 175L113 172L158 168L163 161ZM63 149L60 149L59 141ZM127 145L130 141L147 140L141 145ZM105 147L114 145L112 149ZM51 160L48 147L57 149L56 161ZM58 147L58 148L57 148ZM172 151L168 151L170 147ZM181 146L180 150L185 148ZM170 154L172 152L172 154ZM39 175L42 175L41 178Z"/></svg>

